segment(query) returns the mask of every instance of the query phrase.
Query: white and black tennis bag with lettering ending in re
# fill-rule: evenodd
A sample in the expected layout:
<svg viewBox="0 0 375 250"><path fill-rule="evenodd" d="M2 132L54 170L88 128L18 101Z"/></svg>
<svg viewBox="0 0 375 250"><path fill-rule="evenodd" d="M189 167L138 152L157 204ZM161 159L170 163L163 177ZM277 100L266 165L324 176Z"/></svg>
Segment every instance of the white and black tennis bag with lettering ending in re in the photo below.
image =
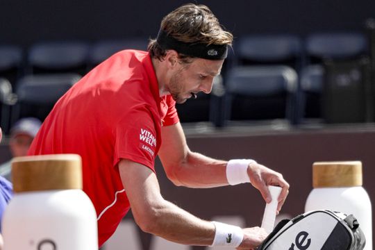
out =
<svg viewBox="0 0 375 250"><path fill-rule="evenodd" d="M362 250L365 243L353 215L313 210L283 219L258 250Z"/></svg>

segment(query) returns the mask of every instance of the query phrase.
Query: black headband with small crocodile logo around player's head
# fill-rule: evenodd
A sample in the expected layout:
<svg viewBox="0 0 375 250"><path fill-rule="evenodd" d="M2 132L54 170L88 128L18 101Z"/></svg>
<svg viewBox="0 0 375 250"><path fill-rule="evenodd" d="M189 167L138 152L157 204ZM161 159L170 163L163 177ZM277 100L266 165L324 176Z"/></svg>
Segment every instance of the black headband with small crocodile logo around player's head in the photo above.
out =
<svg viewBox="0 0 375 250"><path fill-rule="evenodd" d="M178 53L183 53L186 56L203 58L208 60L222 60L226 58L228 49L226 44L203 44L203 43L188 43L180 42L160 29L156 41L163 47L163 49L174 49Z"/></svg>

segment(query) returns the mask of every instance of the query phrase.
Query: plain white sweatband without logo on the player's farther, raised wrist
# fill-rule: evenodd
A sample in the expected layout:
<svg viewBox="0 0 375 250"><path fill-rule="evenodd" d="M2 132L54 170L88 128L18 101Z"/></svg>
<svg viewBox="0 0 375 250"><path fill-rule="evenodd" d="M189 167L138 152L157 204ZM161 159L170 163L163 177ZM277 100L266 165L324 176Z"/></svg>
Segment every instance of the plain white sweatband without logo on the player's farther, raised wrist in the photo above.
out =
<svg viewBox="0 0 375 250"><path fill-rule="evenodd" d="M229 185L237 185L240 183L249 183L250 178L247 174L247 167L250 163L256 163L255 160L235 159L229 160L226 165L226 179Z"/></svg>

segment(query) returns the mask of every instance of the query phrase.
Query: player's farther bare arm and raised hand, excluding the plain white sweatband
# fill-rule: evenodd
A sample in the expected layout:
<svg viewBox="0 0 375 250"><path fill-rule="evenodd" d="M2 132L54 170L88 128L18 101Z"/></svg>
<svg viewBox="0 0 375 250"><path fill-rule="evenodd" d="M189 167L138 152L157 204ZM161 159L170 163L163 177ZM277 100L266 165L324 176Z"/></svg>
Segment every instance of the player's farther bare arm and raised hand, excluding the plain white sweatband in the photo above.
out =
<svg viewBox="0 0 375 250"><path fill-rule="evenodd" d="M227 162L190 151L180 123L163 127L162 140L163 144L158 155L168 178L175 185L190 188L228 185ZM247 174L251 184L260 191L266 202L270 202L271 199L267 185L278 185L283 188L278 197L278 211L280 211L289 192L289 184L283 176L258 163L249 164Z"/></svg>

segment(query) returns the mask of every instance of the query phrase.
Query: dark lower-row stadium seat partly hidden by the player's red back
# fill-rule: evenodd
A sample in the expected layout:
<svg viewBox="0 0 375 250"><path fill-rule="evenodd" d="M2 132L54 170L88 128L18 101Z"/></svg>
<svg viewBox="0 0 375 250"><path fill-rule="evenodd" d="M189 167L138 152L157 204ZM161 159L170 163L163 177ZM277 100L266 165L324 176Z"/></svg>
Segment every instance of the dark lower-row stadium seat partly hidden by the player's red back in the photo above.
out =
<svg viewBox="0 0 375 250"><path fill-rule="evenodd" d="M11 124L22 117L47 117L54 104L81 78L78 74L40 74L24 76L17 83L17 103Z"/></svg>

